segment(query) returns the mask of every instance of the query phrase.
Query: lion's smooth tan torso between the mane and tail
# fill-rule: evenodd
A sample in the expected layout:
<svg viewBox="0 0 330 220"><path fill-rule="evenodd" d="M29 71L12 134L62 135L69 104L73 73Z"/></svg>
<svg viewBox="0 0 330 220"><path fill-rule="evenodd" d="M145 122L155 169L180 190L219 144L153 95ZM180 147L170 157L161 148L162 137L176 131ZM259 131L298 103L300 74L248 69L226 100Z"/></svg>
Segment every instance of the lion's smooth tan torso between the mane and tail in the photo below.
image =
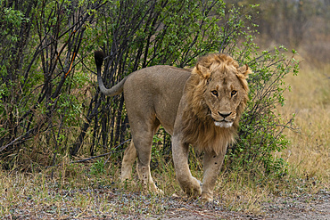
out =
<svg viewBox="0 0 330 220"><path fill-rule="evenodd" d="M132 73L124 85L128 116L149 117L155 114L171 134L178 104L190 75L190 69L170 66L153 66Z"/></svg>

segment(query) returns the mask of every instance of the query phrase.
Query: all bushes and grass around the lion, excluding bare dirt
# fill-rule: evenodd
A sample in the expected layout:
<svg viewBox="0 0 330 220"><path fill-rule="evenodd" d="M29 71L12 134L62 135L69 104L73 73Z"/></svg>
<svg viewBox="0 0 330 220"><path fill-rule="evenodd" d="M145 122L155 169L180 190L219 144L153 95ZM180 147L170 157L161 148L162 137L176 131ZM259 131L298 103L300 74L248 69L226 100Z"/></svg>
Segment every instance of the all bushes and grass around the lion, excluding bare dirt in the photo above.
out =
<svg viewBox="0 0 330 220"><path fill-rule="evenodd" d="M84 209L103 215L120 209L109 205L109 191L139 191L138 183L118 183L129 124L123 97L98 90L99 49L108 56L107 86L146 66L194 66L205 53L249 64L251 102L227 151L219 206L260 213L269 195L328 191L330 4L258 2L0 0L1 215L17 214L31 200L58 216L69 215L62 202L78 208L72 216ZM167 196L183 197L170 153L161 129L153 175ZM199 178L201 161L192 151ZM95 199L86 189L111 190ZM84 193L64 201L78 190ZM139 212L136 204L117 215ZM137 214L164 211L154 205Z"/></svg>

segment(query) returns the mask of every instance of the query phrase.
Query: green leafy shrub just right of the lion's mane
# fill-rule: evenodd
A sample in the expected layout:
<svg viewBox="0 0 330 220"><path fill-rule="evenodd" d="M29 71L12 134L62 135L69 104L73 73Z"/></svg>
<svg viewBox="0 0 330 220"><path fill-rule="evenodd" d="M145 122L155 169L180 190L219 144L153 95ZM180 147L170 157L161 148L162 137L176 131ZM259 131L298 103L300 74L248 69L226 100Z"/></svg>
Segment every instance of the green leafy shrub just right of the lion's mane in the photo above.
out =
<svg viewBox="0 0 330 220"><path fill-rule="evenodd" d="M299 66L297 61L286 59L280 51L286 49L281 46L249 58L248 64L253 69L249 77L250 102L240 121L237 143L227 153L232 169L243 168L277 177L287 173L288 165L283 159L274 158L274 153L288 146L283 130L292 128L293 118L282 118L276 113L276 107L285 104L283 93L289 89L285 86L285 76L296 74Z"/></svg>

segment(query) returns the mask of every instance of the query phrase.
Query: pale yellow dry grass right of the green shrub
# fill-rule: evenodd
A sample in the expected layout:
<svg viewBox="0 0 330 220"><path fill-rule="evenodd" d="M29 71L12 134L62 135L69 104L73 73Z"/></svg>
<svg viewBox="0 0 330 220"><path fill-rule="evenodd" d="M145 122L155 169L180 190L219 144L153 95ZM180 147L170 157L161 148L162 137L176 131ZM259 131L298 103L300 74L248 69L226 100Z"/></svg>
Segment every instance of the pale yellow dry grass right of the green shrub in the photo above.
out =
<svg viewBox="0 0 330 220"><path fill-rule="evenodd" d="M281 154L291 165L291 175L317 179L330 185L330 65L310 68L303 65L298 76L285 80L292 87L286 105L279 111L295 116L298 132L286 131L292 142Z"/></svg>

